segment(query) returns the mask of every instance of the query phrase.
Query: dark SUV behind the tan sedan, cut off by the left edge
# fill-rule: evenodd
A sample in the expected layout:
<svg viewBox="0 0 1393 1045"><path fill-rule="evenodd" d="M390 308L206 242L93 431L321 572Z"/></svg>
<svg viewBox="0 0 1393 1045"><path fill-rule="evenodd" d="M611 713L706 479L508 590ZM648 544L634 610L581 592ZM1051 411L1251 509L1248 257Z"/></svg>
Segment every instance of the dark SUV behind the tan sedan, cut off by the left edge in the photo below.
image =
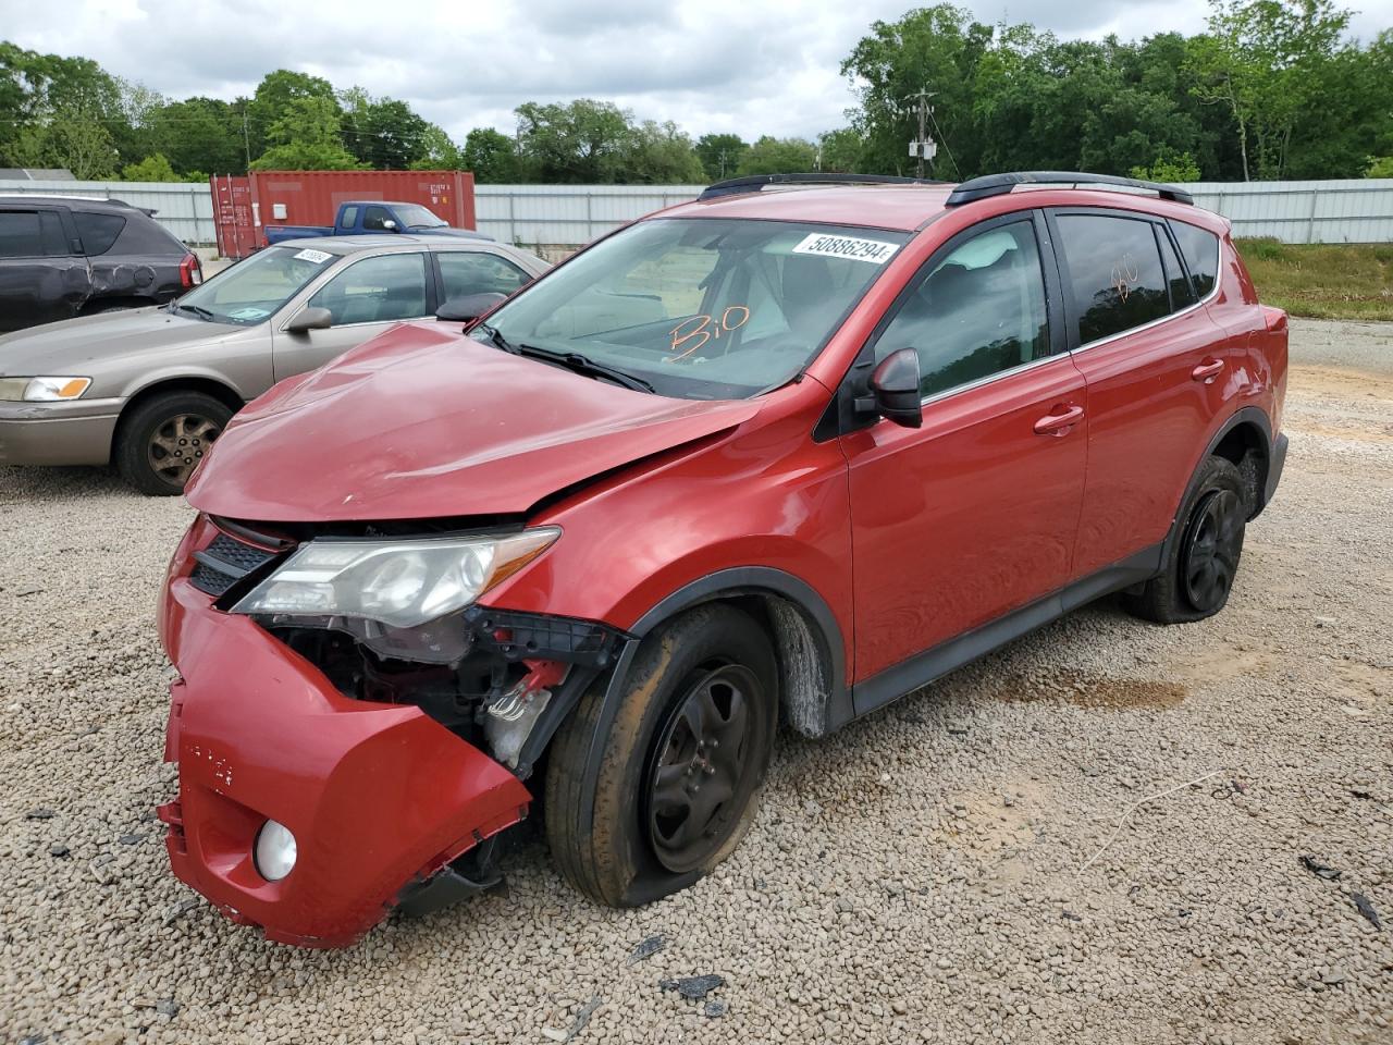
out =
<svg viewBox="0 0 1393 1045"><path fill-rule="evenodd" d="M0 196L0 330L162 305L203 280L153 212L118 199Z"/></svg>

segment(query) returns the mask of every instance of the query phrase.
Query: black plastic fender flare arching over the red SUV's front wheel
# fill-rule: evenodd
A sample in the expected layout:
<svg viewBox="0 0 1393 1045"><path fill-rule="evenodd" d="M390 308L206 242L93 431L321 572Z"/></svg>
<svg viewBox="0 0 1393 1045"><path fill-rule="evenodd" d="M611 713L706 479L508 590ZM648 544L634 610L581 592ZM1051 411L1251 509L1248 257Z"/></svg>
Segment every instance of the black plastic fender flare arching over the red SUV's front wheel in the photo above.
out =
<svg viewBox="0 0 1393 1045"><path fill-rule="evenodd" d="M826 732L830 733L853 718L851 692L846 684L846 648L841 627L837 624L832 607L827 606L826 601L812 585L786 570L776 570L768 566L737 566L727 570L717 570L671 592L628 628L630 637L620 649L614 670L610 672L609 680L605 684L605 695L595 734L591 737L589 750L585 754L582 786L586 793L593 794L596 782L599 780L605 744L609 738L610 727L614 725L614 716L618 713L624 680L628 677L630 665L644 638L664 620L671 619L683 610L733 595L776 595L791 602L802 613L805 621L811 624L809 631L819 647L819 653L827 669ZM581 828L591 830L593 828L593 821L591 821L592 804L586 803L585 808L586 822Z"/></svg>

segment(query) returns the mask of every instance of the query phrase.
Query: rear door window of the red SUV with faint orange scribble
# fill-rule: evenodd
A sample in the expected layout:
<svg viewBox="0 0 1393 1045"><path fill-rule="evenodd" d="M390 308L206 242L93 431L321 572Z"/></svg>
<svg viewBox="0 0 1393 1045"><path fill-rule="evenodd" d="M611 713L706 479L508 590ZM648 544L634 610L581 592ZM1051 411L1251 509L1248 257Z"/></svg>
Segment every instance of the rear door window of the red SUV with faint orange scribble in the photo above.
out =
<svg viewBox="0 0 1393 1045"><path fill-rule="evenodd" d="M1160 263L1152 223L1110 215L1059 215L1078 314L1078 343L1144 326L1170 312L1166 272Z"/></svg>

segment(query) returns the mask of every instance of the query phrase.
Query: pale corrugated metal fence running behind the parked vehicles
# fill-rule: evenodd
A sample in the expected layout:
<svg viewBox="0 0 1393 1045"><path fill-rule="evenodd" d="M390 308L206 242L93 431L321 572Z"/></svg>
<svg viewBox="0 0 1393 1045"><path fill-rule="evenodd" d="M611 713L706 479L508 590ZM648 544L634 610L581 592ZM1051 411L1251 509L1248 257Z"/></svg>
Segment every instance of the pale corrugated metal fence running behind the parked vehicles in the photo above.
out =
<svg viewBox="0 0 1393 1045"><path fill-rule="evenodd" d="M1393 178L1360 181L1202 181L1199 206L1233 222L1234 235L1286 242L1393 242ZM701 185L479 185L479 231L528 247L575 247L642 215L691 199ZM0 181L0 194L47 192L124 199L157 210L188 244L216 242L208 185L159 181Z"/></svg>

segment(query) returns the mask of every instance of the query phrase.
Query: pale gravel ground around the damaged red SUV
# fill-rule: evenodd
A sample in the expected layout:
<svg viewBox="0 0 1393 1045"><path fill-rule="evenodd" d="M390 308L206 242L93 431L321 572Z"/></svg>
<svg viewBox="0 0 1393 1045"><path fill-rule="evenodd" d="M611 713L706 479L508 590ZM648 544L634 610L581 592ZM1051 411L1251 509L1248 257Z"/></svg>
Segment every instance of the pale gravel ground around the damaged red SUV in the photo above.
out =
<svg viewBox="0 0 1393 1045"><path fill-rule="evenodd" d="M1393 1041L1393 327L1294 326L1286 478L1217 619L1098 605L781 737L745 844L662 903L589 904L534 835L506 893L337 953L169 874L150 610L188 510L0 468L0 1039Z"/></svg>

